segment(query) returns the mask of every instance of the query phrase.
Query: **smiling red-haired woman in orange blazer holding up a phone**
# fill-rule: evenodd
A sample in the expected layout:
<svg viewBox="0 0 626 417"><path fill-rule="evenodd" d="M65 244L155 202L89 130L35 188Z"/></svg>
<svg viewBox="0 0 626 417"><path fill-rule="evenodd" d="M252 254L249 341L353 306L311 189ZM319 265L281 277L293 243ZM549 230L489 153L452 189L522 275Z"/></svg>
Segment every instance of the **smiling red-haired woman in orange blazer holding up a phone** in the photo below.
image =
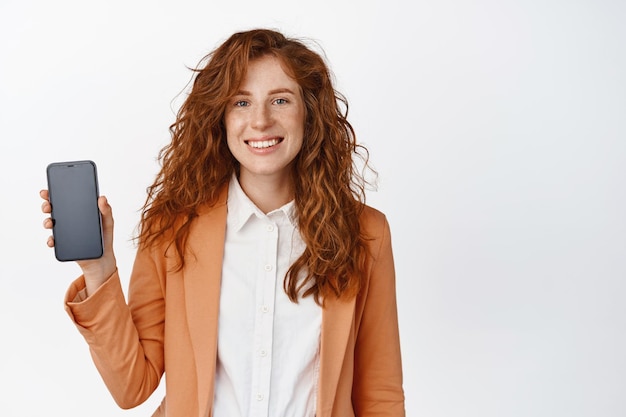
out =
<svg viewBox="0 0 626 417"><path fill-rule="evenodd" d="M342 103L276 31L209 54L159 155L128 304L100 197L105 253L78 262L66 309L121 407L165 373L155 416L404 415L389 226Z"/></svg>

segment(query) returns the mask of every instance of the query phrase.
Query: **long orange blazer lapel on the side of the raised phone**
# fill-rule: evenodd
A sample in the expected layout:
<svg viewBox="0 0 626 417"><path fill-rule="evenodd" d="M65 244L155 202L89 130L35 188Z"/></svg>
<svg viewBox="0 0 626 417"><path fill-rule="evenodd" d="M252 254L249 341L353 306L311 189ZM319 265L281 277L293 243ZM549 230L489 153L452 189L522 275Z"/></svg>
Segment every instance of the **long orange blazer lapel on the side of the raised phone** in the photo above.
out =
<svg viewBox="0 0 626 417"><path fill-rule="evenodd" d="M201 210L187 240L183 279L187 322L198 380L198 410L209 415L217 358L217 323L224 238L226 198L224 187L215 206Z"/></svg>

